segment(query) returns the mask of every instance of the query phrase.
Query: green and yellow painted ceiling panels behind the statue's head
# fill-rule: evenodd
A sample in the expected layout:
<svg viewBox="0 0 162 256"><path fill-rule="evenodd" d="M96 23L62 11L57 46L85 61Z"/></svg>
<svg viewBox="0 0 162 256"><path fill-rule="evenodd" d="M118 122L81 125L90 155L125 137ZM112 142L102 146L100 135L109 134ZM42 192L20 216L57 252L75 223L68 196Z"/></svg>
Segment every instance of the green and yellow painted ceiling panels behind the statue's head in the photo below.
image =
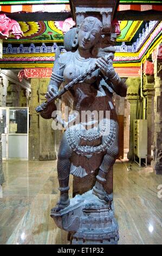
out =
<svg viewBox="0 0 162 256"><path fill-rule="evenodd" d="M18 23L24 36L17 40L12 35L8 40L4 40L4 42L63 42L64 32L75 25L72 18L68 18L65 21L20 21ZM120 21L119 23L121 33L117 38L118 45L121 42L132 45L146 27L146 22L143 21Z"/></svg>

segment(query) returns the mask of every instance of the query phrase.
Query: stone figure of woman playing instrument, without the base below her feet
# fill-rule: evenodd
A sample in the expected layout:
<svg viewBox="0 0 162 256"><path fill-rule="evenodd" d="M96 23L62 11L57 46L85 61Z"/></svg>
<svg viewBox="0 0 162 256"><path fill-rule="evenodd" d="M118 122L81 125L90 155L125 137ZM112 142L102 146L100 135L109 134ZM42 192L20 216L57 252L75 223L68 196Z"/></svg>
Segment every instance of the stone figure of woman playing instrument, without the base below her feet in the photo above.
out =
<svg viewBox="0 0 162 256"><path fill-rule="evenodd" d="M60 143L57 161L60 200L55 211L60 211L70 203L69 174L82 178L99 169L93 193L101 200L111 200L103 184L118 155L118 122L112 94L114 90L120 96L126 96L126 86L114 71L111 58L96 57L99 56L96 45L101 40L101 32L102 23L99 19L87 17L83 20L74 39L73 45L77 50L63 53L56 59L46 93L46 98L50 99L58 93L62 81L69 83L95 64L98 65L99 69L70 89L74 97L74 109L80 114L80 119L79 123L64 132ZM81 119L82 111L92 113L91 129L88 129L89 120ZM100 120L96 120L94 111L109 111L110 115L107 117L103 114ZM109 131L105 132L107 127Z"/></svg>

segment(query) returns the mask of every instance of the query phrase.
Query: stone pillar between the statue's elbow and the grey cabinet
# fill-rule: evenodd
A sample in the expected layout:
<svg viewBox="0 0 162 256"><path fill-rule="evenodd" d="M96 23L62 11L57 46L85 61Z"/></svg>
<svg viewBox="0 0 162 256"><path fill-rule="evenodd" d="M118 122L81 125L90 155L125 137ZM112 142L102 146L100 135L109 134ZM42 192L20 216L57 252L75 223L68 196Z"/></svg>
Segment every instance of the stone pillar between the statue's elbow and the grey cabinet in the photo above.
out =
<svg viewBox="0 0 162 256"><path fill-rule="evenodd" d="M133 159L133 120L137 119L137 103L139 99L140 77L129 77L127 84L127 99L130 103L130 129L129 129L129 152L128 159Z"/></svg>

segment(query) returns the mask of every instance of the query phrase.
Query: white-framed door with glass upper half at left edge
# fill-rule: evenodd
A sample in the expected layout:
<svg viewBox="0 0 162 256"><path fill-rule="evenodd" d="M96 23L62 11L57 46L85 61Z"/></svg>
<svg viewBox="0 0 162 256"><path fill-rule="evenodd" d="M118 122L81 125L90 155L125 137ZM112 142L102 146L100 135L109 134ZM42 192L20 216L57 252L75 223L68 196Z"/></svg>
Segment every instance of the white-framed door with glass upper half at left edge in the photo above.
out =
<svg viewBox="0 0 162 256"><path fill-rule="evenodd" d="M29 108L0 107L2 159L28 160Z"/></svg>

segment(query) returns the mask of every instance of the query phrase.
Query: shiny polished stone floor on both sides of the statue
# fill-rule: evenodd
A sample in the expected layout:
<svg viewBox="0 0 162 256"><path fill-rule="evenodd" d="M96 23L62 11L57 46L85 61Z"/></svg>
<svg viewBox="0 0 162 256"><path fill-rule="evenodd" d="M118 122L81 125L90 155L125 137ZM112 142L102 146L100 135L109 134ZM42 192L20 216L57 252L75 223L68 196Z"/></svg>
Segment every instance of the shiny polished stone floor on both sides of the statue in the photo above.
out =
<svg viewBox="0 0 162 256"><path fill-rule="evenodd" d="M157 193L162 175L135 164L128 171L129 165L118 161L114 166L119 244L161 244L162 198ZM0 193L0 244L69 243L67 232L57 228L50 217L58 199L56 161L7 161L3 168L6 182Z"/></svg>

